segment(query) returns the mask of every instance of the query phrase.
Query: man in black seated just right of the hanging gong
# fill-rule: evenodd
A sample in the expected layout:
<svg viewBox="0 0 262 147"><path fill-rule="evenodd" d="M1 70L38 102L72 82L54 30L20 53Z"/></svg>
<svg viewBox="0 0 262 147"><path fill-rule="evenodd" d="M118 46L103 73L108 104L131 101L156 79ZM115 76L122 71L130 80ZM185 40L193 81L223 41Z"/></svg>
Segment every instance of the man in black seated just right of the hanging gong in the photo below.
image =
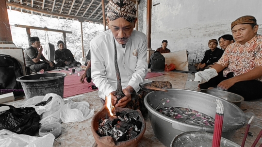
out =
<svg viewBox="0 0 262 147"><path fill-rule="evenodd" d="M69 49L65 49L65 44L63 41L59 40L57 42L57 46L59 49L55 50L54 52L57 67L81 65L80 62L75 61L72 52Z"/></svg>

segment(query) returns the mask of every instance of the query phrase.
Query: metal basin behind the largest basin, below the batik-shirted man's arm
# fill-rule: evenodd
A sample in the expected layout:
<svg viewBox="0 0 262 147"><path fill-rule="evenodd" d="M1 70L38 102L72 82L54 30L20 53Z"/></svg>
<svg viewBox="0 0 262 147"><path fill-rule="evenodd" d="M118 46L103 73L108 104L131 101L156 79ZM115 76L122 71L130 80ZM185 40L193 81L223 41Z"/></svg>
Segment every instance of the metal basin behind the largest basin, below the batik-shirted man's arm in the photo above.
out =
<svg viewBox="0 0 262 147"><path fill-rule="evenodd" d="M219 98L224 98L238 107L240 107L241 102L244 101L242 96L227 91L217 89L201 89L200 92L207 93Z"/></svg>

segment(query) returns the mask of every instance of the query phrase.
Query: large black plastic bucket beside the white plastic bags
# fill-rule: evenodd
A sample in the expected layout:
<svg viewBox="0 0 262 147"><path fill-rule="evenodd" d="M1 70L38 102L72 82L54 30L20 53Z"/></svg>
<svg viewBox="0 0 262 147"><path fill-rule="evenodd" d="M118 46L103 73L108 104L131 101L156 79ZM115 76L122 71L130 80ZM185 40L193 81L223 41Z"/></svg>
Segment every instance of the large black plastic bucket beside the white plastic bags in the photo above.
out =
<svg viewBox="0 0 262 147"><path fill-rule="evenodd" d="M65 73L46 73L22 76L16 79L21 82L27 99L54 93L64 98Z"/></svg>

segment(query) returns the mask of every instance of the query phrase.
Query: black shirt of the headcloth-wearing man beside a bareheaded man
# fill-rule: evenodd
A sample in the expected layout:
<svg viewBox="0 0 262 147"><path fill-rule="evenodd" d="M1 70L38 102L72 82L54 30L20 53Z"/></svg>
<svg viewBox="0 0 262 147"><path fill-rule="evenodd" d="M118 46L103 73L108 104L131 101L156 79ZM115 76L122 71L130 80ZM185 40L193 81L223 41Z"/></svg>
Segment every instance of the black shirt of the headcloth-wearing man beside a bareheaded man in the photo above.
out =
<svg viewBox="0 0 262 147"><path fill-rule="evenodd" d="M201 61L201 64L212 65L213 63L217 62L223 55L224 51L222 49L216 48L214 51L208 49L205 52L205 56ZM208 62L209 61L209 62ZM207 63L208 62L208 63Z"/></svg>

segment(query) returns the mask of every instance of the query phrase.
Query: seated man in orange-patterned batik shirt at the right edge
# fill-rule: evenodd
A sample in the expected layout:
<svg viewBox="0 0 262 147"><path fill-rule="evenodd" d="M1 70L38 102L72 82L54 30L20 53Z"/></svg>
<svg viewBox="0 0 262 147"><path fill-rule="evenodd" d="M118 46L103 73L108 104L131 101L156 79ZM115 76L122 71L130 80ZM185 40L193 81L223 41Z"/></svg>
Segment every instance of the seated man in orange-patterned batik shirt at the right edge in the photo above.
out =
<svg viewBox="0 0 262 147"><path fill-rule="evenodd" d="M245 100L262 98L262 35L257 34L258 28L253 16L242 16L231 23L236 42L211 69L196 73L200 89L217 87Z"/></svg>

